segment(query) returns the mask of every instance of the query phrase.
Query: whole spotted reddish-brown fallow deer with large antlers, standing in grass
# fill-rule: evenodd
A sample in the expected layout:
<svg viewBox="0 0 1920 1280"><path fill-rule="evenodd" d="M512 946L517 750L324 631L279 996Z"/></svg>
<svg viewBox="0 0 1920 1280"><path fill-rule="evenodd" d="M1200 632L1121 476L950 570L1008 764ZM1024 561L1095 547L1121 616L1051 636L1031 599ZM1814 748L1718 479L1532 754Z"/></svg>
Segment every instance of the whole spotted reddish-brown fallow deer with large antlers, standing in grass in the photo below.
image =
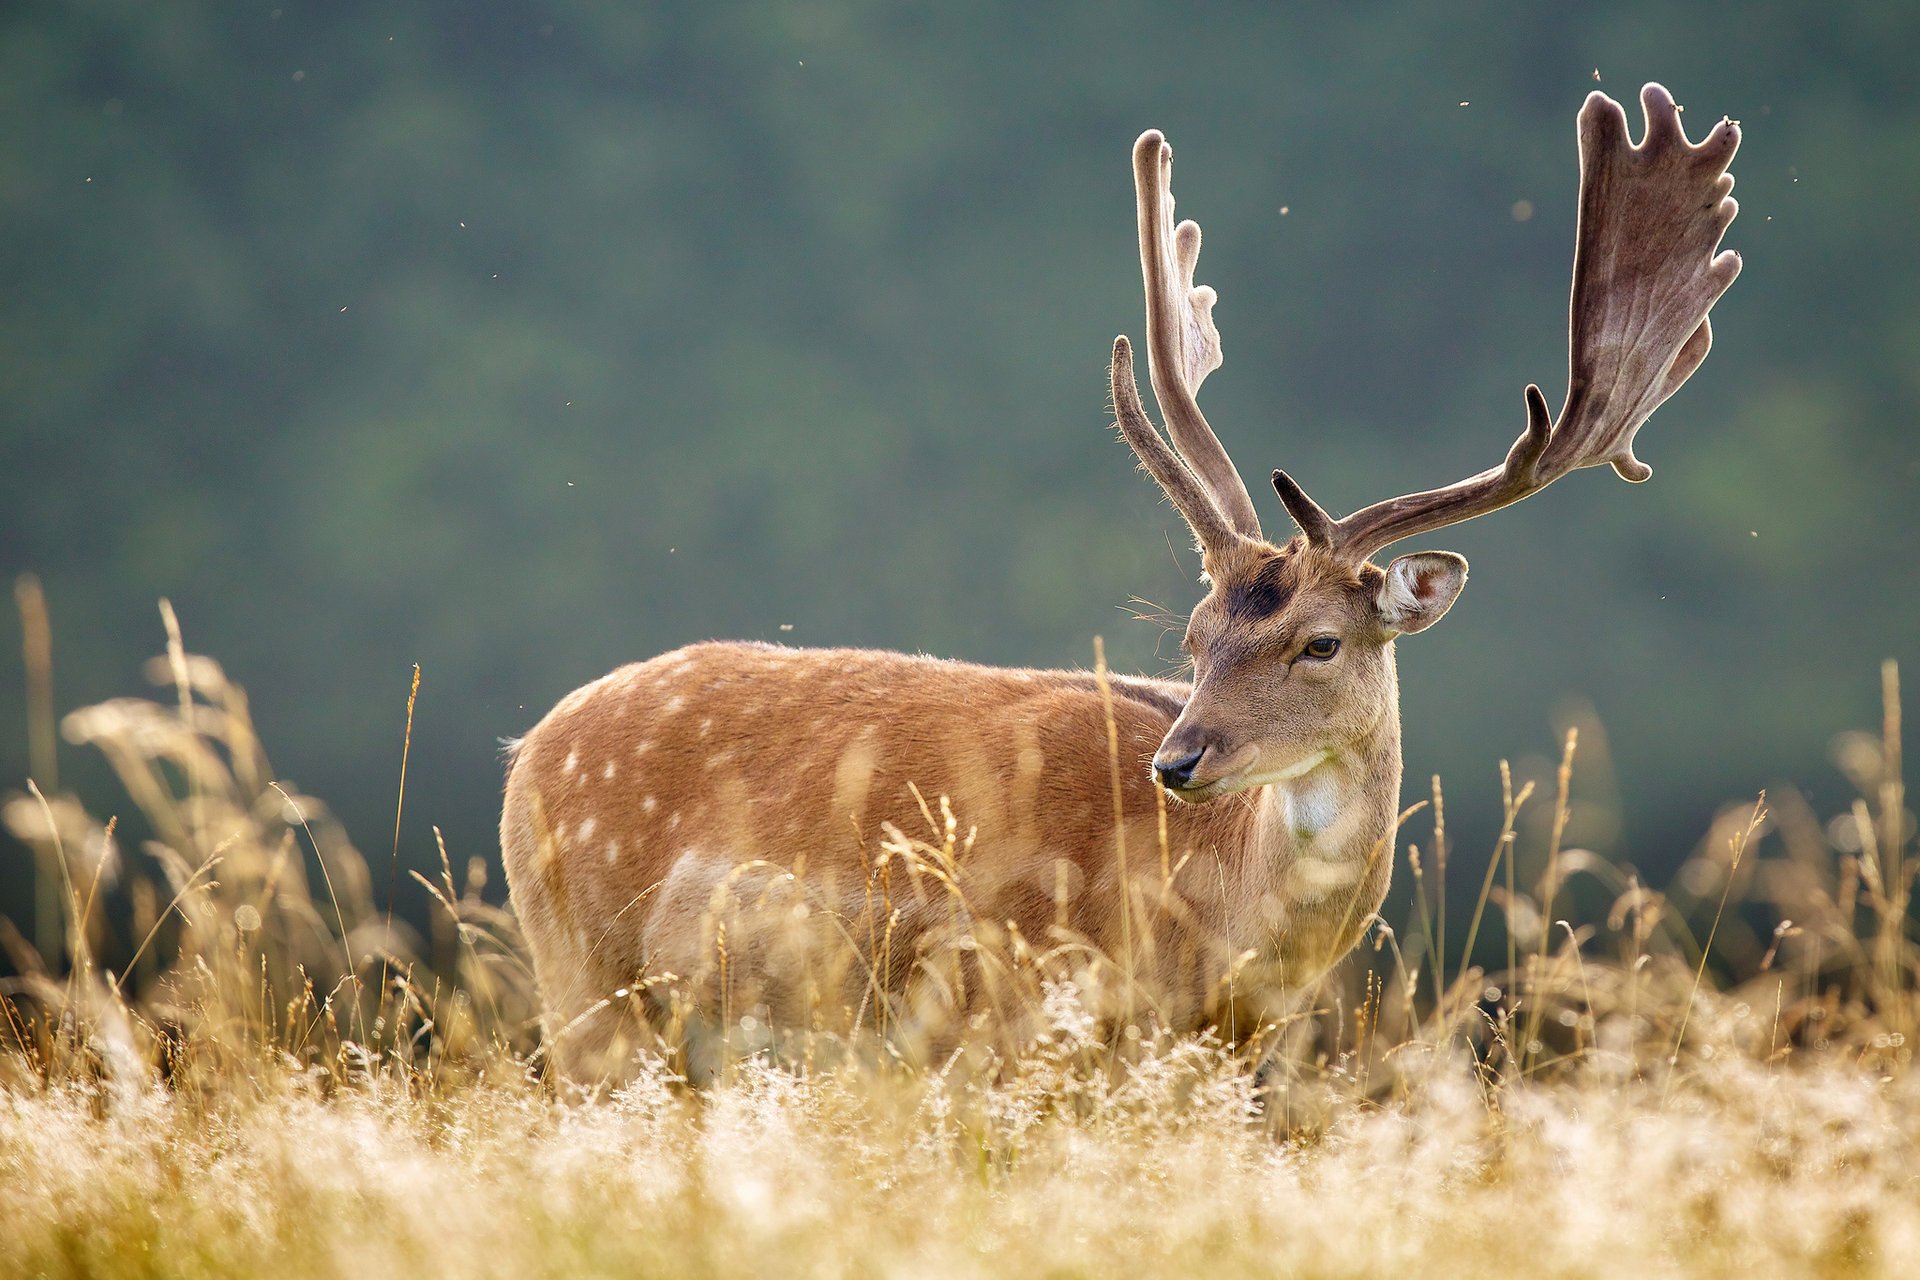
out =
<svg viewBox="0 0 1920 1280"><path fill-rule="evenodd" d="M1638 144L1607 94L1578 113L1559 413L1528 386L1500 464L1340 518L1273 470L1294 526L1279 541L1200 411L1221 367L1215 292L1194 284L1200 226L1173 219L1173 150L1140 134L1165 430L1142 409L1125 336L1112 411L1200 555L1190 679L710 641L566 695L509 745L501 810L561 1069L618 1071L676 1017L710 1040L735 1015L801 1027L837 1007L900 1027L929 1004L968 1013L991 986L987 940L1104 958L1125 971L1129 1011L1150 990L1142 1004L1173 1029L1254 1025L1311 992L1392 875L1394 643L1440 622L1467 581L1448 551L1373 557L1586 466L1647 480L1634 436L1707 357L1707 313L1740 273L1720 249L1740 125L1722 117L1693 144L1663 86L1640 98ZM927 823L933 839L904 835ZM887 881L889 858L914 848L912 875ZM851 958L828 979L822 946ZM964 965L933 963L943 946L973 965L972 988ZM733 990L753 1004L730 1004Z"/></svg>

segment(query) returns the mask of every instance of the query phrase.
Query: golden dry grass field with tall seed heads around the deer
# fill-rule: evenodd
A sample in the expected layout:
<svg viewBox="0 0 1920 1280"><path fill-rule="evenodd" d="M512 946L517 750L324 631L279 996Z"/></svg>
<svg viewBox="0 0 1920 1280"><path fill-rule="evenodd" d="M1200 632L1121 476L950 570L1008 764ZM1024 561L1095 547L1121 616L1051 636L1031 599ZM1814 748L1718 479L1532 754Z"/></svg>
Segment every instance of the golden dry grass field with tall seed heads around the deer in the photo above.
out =
<svg viewBox="0 0 1920 1280"><path fill-rule="evenodd" d="M1567 839L1572 743L1544 794L1509 785L1490 850L1413 816L1413 919L1377 923L1308 1013L1252 1044L1112 1017L1116 965L1062 944L1012 958L1020 1007L950 1052L812 1031L710 1088L655 1055L582 1092L543 1071L488 858L442 850L438 875L401 881L432 894L426 936L388 921L388 860L275 781L242 691L167 618L156 700L61 722L125 796L6 802L42 894L0 912L23 975L0 986L0 1276L1851 1276L1920 1259L1920 860L1891 666L1885 723L1839 750L1860 800L1703 812L1667 890ZM29 628L31 685L35 652ZM115 808L138 810L140 848L94 816ZM954 865L945 841L916 844L925 867ZM1455 892L1478 889L1473 938L1444 935L1444 862ZM1465 967L1486 942L1496 963ZM1277 1071L1256 1090L1263 1046Z"/></svg>

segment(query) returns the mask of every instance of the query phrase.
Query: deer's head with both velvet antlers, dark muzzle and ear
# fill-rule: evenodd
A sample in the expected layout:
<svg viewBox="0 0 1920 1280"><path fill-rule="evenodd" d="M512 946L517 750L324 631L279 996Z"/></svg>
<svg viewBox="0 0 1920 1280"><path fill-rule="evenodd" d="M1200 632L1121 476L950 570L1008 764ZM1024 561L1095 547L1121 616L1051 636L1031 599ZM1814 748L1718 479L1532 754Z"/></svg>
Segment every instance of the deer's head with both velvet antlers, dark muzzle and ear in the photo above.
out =
<svg viewBox="0 0 1920 1280"><path fill-rule="evenodd" d="M1738 211L1726 167L1740 127L1722 119L1695 146L1665 88L1647 84L1640 98L1638 146L1620 104L1596 92L1580 109L1559 415L1528 386L1526 430L1500 466L1338 520L1275 470L1273 487L1300 530L1284 545L1261 535L1246 484L1200 413L1200 384L1221 365L1215 294L1194 284L1200 226L1173 223L1173 150L1156 130L1140 134L1133 180L1148 367L1167 436L1140 407L1125 338L1114 342L1114 416L1192 530L1208 581L1183 641L1192 697L1154 754L1171 794L1206 800L1286 781L1361 750L1388 725L1398 731L1392 643L1446 614L1467 560L1419 551L1380 568L1375 553L1517 503L1580 466L1607 462L1636 484L1653 474L1634 457L1634 434L1707 357L1707 311L1740 274L1740 255L1716 251Z"/></svg>

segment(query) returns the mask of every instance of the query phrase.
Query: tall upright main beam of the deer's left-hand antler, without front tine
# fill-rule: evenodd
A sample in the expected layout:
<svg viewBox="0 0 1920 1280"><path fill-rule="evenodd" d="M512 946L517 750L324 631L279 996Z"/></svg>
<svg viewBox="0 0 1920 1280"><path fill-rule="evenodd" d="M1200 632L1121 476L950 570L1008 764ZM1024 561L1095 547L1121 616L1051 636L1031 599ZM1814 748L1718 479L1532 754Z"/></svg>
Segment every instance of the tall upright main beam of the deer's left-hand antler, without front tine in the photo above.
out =
<svg viewBox="0 0 1920 1280"><path fill-rule="evenodd" d="M1246 537L1260 537L1260 514L1240 472L1208 426L1196 399L1206 376L1219 368L1219 330L1213 328L1212 288L1194 286L1200 226L1173 223L1173 148L1158 129L1133 144L1133 190L1140 223L1140 274L1146 284L1146 351L1154 399L1167 436L1192 474Z"/></svg>

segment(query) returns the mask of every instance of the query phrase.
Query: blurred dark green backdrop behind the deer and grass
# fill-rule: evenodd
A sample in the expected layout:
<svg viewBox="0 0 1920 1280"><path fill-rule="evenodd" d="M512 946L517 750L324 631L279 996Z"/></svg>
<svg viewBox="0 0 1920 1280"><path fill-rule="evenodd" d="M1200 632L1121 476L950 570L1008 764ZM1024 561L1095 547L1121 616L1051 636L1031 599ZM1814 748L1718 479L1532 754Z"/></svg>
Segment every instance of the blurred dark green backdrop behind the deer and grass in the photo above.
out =
<svg viewBox="0 0 1920 1280"><path fill-rule="evenodd" d="M495 739L685 641L1164 672L1127 603L1185 612L1196 560L1104 386L1140 129L1281 530L1275 464L1348 510L1559 403L1572 117L1661 79L1747 132L1716 349L1649 486L1430 539L1473 583L1400 654L1463 846L1592 714L1588 839L1657 875L1722 800L1839 802L1880 662L1920 679L1916 50L1910 0L10 4L0 570L46 583L61 710L142 689L171 597L371 854L419 662L415 865L428 823L497 858Z"/></svg>

